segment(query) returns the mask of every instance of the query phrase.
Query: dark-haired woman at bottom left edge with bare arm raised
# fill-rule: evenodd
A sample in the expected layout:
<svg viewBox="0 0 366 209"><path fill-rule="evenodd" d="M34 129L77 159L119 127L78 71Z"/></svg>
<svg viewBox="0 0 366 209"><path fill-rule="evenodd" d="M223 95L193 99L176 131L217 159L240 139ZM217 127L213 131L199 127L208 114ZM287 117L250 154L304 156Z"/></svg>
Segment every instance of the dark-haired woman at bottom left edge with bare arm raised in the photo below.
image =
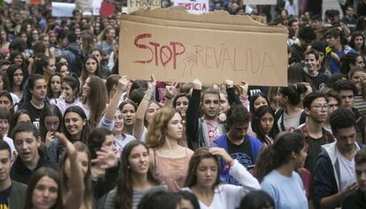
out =
<svg viewBox="0 0 366 209"><path fill-rule="evenodd" d="M68 190L63 190L63 178L52 168L39 168L31 176L24 209L80 209L84 198L86 185L83 181L83 168L78 159L77 145L57 133L57 138L63 143L68 156L68 173L72 175L68 183ZM63 172L63 171L62 171Z"/></svg>

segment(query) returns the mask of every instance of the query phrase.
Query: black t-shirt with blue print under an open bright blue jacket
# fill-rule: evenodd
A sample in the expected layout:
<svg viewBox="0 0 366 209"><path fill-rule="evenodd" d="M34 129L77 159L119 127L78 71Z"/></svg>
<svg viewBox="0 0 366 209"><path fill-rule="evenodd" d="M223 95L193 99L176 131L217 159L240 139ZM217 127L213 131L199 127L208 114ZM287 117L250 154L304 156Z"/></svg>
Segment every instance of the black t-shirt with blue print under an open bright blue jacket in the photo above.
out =
<svg viewBox="0 0 366 209"><path fill-rule="evenodd" d="M228 153L232 156L233 159L236 159L243 165L245 168L254 165L255 161L253 160L252 149L250 146L250 141L245 137L243 143L239 146L233 144L229 139L227 140Z"/></svg>

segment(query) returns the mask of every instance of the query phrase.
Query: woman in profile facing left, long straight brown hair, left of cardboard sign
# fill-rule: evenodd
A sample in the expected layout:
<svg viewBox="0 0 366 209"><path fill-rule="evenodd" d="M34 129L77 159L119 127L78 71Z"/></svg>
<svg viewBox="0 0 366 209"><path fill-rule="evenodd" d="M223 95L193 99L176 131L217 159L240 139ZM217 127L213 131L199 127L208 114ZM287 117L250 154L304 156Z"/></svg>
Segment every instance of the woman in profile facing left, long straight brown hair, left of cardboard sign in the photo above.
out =
<svg viewBox="0 0 366 209"><path fill-rule="evenodd" d="M91 127L97 127L105 108L107 108L107 88L105 87L102 78L89 76L82 86L82 108L87 114Z"/></svg>

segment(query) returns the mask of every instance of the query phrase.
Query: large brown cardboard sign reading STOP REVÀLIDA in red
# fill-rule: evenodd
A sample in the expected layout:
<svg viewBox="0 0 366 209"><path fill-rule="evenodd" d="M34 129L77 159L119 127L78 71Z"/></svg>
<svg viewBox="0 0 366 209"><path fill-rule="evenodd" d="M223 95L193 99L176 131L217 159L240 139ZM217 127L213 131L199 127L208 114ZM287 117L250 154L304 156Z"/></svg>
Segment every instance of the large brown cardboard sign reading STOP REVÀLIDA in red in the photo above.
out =
<svg viewBox="0 0 366 209"><path fill-rule="evenodd" d="M215 11L140 10L122 15L119 74L129 78L205 84L286 86L287 32L248 16Z"/></svg>

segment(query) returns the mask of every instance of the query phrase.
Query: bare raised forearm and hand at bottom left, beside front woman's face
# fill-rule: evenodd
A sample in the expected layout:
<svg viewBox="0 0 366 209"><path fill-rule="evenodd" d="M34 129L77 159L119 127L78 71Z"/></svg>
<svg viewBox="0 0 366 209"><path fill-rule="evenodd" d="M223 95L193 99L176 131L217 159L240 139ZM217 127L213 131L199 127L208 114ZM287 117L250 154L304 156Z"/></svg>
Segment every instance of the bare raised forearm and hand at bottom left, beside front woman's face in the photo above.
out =
<svg viewBox="0 0 366 209"><path fill-rule="evenodd" d="M65 150L70 160L70 191L65 199L65 208L79 209L84 200L84 177L78 160L78 151L75 146L65 137L63 133L57 132L56 137L65 146Z"/></svg>

